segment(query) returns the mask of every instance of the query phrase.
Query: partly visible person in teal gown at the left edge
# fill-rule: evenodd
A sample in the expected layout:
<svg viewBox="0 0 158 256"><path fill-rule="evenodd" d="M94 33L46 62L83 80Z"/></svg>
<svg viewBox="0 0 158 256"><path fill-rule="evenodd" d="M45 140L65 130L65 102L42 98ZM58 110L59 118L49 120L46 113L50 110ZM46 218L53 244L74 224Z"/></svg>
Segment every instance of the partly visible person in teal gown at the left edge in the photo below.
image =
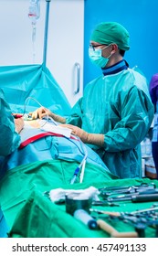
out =
<svg viewBox="0 0 158 256"><path fill-rule="evenodd" d="M20 144L18 133L23 129L22 118L14 119L5 95L0 89L0 156L11 154Z"/></svg>

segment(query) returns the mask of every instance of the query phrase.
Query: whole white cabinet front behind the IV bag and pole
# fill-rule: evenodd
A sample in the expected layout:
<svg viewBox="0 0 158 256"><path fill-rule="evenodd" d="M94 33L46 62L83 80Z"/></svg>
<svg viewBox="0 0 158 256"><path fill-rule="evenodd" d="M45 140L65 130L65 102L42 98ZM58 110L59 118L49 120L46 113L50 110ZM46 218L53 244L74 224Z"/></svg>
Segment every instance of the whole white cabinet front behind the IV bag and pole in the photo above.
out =
<svg viewBox="0 0 158 256"><path fill-rule="evenodd" d="M0 1L0 66L43 63L46 5L40 0L33 46L29 0ZM71 105L83 91L83 27L84 0L50 1L46 64Z"/></svg>

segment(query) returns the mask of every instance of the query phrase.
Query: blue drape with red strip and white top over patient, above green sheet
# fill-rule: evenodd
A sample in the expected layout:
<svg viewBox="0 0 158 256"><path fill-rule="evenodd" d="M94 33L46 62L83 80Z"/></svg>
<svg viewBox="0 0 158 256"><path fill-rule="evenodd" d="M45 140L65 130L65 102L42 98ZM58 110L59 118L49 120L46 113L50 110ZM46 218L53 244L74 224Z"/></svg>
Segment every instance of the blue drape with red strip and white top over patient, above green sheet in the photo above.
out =
<svg viewBox="0 0 158 256"><path fill-rule="evenodd" d="M100 166L109 172L100 156L88 145L83 144L79 138L72 136L68 128L54 125L51 120L23 122L25 125L19 133L21 144L11 155L5 157L1 171L13 169L19 165L58 159L68 161L71 165L72 162L79 165L86 155L87 164Z"/></svg>

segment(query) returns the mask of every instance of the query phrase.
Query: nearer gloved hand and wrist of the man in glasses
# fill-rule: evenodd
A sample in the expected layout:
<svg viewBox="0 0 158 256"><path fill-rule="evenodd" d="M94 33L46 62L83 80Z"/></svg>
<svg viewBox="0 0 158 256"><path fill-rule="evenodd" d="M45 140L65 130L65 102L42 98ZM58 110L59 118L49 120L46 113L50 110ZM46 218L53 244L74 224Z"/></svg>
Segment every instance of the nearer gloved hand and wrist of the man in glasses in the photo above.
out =
<svg viewBox="0 0 158 256"><path fill-rule="evenodd" d="M72 130L72 134L78 136L80 140L85 144L95 144L103 146L104 135L99 133L87 133L78 126L72 124L60 124L60 126L67 127Z"/></svg>

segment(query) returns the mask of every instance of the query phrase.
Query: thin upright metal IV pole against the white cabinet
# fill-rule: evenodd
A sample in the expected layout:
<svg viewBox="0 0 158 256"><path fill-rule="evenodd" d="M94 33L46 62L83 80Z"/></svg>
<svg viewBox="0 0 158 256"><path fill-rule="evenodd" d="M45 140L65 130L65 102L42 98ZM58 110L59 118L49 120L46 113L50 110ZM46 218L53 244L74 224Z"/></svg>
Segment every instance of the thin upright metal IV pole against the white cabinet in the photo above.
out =
<svg viewBox="0 0 158 256"><path fill-rule="evenodd" d="M49 18L49 4L51 0L46 0L46 18L45 18L45 34L44 34L44 48L43 48L43 69L46 68L47 62L47 34L48 34L48 18Z"/></svg>

